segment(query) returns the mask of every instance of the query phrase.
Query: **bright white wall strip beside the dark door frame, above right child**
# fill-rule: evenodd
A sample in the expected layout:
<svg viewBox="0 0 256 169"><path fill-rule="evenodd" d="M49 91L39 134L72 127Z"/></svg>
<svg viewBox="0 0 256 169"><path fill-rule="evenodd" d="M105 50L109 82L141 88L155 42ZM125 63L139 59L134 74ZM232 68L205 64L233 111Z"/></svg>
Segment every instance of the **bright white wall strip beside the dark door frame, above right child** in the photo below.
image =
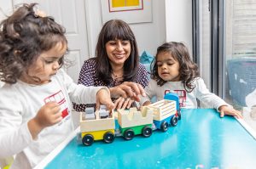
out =
<svg viewBox="0 0 256 169"><path fill-rule="evenodd" d="M184 42L192 55L192 1L166 0L166 41Z"/></svg>

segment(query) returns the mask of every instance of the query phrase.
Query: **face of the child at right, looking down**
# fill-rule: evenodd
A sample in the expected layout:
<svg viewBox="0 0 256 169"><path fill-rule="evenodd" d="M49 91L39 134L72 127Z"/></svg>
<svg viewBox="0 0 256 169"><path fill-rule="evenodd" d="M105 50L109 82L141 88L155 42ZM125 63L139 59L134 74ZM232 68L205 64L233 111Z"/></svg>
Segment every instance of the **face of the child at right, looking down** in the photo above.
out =
<svg viewBox="0 0 256 169"><path fill-rule="evenodd" d="M180 81L179 63L169 52L160 52L156 60L157 70L160 78L167 82Z"/></svg>

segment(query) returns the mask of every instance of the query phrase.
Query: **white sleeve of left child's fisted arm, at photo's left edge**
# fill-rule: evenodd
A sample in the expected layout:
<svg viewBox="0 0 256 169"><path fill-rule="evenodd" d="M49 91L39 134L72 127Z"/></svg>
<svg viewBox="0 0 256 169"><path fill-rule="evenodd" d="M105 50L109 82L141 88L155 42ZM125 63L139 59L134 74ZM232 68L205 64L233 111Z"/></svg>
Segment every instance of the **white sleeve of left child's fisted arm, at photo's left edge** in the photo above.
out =
<svg viewBox="0 0 256 169"><path fill-rule="evenodd" d="M18 94L14 89L2 87L0 95L0 158L3 158L20 153L33 140L27 122L22 123L23 105L17 99Z"/></svg>

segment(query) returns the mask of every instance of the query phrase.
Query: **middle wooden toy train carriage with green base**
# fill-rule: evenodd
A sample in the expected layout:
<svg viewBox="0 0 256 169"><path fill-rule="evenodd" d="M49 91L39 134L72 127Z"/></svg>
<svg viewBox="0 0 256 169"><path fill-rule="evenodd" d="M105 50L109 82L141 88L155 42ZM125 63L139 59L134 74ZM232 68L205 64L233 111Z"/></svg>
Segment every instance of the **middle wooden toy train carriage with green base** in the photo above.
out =
<svg viewBox="0 0 256 169"><path fill-rule="evenodd" d="M148 138L152 134L153 111L143 107L142 111L137 108L130 110L117 110L118 122L121 135L126 140L131 140L135 135L142 134Z"/></svg>

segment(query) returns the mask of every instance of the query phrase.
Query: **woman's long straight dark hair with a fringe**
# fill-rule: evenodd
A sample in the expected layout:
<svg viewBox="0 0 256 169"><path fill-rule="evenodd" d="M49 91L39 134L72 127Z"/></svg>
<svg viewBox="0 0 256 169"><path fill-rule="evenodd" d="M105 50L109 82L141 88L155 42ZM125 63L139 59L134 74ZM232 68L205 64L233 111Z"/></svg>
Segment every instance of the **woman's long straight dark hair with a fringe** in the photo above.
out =
<svg viewBox="0 0 256 169"><path fill-rule="evenodd" d="M137 42L130 26L123 20L109 20L103 25L96 44L96 76L107 85L112 81L112 68L105 45L108 41L117 39L131 43L131 54L125 60L123 82L133 82L137 75L139 62Z"/></svg>

